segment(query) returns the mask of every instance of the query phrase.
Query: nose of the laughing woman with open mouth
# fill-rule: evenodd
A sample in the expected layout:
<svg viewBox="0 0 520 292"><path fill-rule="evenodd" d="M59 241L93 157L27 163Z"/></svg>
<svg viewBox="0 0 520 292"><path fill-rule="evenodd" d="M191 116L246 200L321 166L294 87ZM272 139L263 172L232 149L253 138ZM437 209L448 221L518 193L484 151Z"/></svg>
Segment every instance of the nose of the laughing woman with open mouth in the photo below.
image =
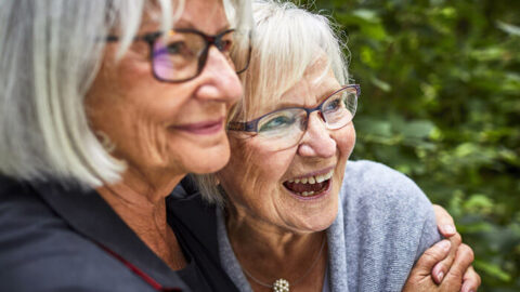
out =
<svg viewBox="0 0 520 292"><path fill-rule="evenodd" d="M307 131L298 145L298 155L329 158L336 155L336 140L330 136L318 112L312 112Z"/></svg>

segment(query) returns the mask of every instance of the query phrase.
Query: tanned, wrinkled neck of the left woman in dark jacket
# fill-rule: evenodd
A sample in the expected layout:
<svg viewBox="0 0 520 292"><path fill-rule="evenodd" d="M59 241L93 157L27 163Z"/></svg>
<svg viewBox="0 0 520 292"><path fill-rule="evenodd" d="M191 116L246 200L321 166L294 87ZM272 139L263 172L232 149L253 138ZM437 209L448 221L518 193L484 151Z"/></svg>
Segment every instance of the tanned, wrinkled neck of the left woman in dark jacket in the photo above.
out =
<svg viewBox="0 0 520 292"><path fill-rule="evenodd" d="M182 177L183 174L171 175L169 180L144 180L129 170L121 182L96 189L141 240L172 269L184 267L185 260L167 223L166 197Z"/></svg>

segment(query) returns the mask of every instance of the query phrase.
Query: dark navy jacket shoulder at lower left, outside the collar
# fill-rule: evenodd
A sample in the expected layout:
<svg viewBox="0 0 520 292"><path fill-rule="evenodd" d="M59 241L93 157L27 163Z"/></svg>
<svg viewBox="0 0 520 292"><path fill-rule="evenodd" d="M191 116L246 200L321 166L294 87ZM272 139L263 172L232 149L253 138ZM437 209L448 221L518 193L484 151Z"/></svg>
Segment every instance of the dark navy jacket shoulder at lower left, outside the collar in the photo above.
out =
<svg viewBox="0 0 520 292"><path fill-rule="evenodd" d="M122 291L146 287L96 244L70 229L31 186L0 178L0 282L6 291ZM117 275L115 280L114 276ZM110 277L113 277L110 279ZM127 287L128 288L128 287Z"/></svg>

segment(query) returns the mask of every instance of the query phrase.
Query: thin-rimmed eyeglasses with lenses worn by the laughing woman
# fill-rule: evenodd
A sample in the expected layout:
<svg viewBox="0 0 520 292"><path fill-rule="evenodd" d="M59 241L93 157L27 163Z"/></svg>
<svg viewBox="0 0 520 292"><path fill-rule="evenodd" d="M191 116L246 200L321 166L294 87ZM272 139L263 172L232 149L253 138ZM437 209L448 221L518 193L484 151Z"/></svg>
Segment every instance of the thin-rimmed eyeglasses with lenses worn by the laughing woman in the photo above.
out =
<svg viewBox="0 0 520 292"><path fill-rule="evenodd" d="M309 124L309 116L318 111L329 130L343 128L352 121L361 94L359 84L350 84L330 94L314 108L288 107L247 122L230 122L227 130L256 133L266 150L277 151L297 145Z"/></svg>

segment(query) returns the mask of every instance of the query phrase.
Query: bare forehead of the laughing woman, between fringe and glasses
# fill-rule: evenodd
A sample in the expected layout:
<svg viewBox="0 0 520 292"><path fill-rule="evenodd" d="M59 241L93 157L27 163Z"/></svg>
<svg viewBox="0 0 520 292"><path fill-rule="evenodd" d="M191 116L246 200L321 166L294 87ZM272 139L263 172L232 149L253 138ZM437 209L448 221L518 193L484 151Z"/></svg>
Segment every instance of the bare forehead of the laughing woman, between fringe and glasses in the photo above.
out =
<svg viewBox="0 0 520 292"><path fill-rule="evenodd" d="M259 117L284 107L314 107L340 88L341 84L334 76L330 67L326 63L316 62L309 66L303 77L282 96L252 101L250 103L253 109L251 110L252 117L249 118Z"/></svg>

